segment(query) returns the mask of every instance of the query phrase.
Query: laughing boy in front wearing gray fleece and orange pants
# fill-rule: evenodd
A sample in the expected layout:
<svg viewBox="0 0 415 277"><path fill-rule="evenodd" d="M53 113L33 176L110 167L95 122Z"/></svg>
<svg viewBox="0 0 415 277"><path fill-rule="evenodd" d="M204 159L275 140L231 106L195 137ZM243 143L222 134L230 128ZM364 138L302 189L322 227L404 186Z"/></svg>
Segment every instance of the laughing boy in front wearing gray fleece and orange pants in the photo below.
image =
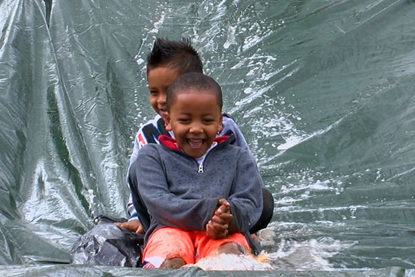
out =
<svg viewBox="0 0 415 277"><path fill-rule="evenodd" d="M261 177L233 135L216 136L221 109L219 84L201 73L181 75L167 89L165 129L176 139L160 135L160 145L145 145L129 169L134 205L144 202L150 215L145 267L178 268L252 245Z"/></svg>

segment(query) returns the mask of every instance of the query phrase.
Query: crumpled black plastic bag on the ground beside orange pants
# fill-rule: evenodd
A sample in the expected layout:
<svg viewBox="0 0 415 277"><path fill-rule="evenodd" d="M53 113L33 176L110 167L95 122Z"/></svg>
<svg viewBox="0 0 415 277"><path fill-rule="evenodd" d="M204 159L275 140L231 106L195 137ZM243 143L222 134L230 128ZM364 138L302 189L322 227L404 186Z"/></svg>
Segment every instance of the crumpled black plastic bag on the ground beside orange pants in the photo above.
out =
<svg viewBox="0 0 415 277"><path fill-rule="evenodd" d="M104 215L95 217L97 225L73 244L71 264L141 267L144 234L113 224L126 221L125 218L113 219Z"/></svg>

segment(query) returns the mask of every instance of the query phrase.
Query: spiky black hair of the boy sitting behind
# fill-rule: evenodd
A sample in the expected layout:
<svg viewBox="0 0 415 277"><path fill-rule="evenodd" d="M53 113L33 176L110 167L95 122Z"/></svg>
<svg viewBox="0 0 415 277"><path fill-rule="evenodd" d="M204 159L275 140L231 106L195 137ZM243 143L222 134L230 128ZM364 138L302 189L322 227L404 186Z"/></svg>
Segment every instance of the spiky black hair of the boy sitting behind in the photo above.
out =
<svg viewBox="0 0 415 277"><path fill-rule="evenodd" d="M170 40L158 38L147 55L147 73L157 66L167 65L176 69L178 75L189 72L203 73L199 53L193 48L190 38Z"/></svg>

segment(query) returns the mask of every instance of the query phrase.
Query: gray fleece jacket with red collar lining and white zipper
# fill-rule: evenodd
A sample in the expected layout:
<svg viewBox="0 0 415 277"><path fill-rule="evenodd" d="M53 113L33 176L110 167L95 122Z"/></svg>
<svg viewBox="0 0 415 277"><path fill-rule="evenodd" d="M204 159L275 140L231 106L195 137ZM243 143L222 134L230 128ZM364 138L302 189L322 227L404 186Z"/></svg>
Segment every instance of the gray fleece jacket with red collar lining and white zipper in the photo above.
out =
<svg viewBox="0 0 415 277"><path fill-rule="evenodd" d="M221 139L222 138L222 139ZM131 186L151 217L145 242L156 229L171 226L187 231L205 230L219 198L230 203L233 215L229 232L241 232L249 239L249 229L262 211L262 181L250 153L230 144L234 136L216 138L219 144L208 152L203 172L196 159L187 156L167 136L161 145L147 144L133 163L136 180ZM224 140L225 139L225 140Z"/></svg>

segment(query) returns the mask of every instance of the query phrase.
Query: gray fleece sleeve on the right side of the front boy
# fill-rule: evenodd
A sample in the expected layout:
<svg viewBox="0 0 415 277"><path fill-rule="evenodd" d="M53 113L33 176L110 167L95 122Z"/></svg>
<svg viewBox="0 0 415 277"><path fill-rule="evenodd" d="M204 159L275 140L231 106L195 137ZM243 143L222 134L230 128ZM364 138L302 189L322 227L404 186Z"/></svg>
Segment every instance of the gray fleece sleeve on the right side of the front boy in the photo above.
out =
<svg viewBox="0 0 415 277"><path fill-rule="evenodd" d="M257 165L248 151L241 150L237 175L228 197L233 215L229 232L245 232L252 228L261 215L262 201L262 180Z"/></svg>

